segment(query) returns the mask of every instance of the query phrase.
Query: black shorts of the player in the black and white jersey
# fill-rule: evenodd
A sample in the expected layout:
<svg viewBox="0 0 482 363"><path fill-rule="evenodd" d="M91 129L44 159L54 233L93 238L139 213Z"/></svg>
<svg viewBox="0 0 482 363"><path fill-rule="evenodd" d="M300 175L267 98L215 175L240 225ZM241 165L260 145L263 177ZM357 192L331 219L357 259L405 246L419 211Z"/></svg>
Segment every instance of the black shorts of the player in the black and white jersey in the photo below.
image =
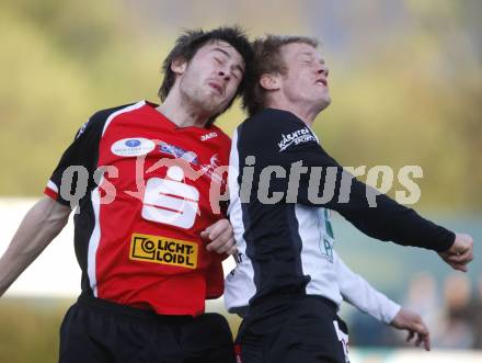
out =
<svg viewBox="0 0 482 363"><path fill-rule="evenodd" d="M346 363L348 331L321 296L282 296L250 307L236 349L242 363Z"/></svg>

